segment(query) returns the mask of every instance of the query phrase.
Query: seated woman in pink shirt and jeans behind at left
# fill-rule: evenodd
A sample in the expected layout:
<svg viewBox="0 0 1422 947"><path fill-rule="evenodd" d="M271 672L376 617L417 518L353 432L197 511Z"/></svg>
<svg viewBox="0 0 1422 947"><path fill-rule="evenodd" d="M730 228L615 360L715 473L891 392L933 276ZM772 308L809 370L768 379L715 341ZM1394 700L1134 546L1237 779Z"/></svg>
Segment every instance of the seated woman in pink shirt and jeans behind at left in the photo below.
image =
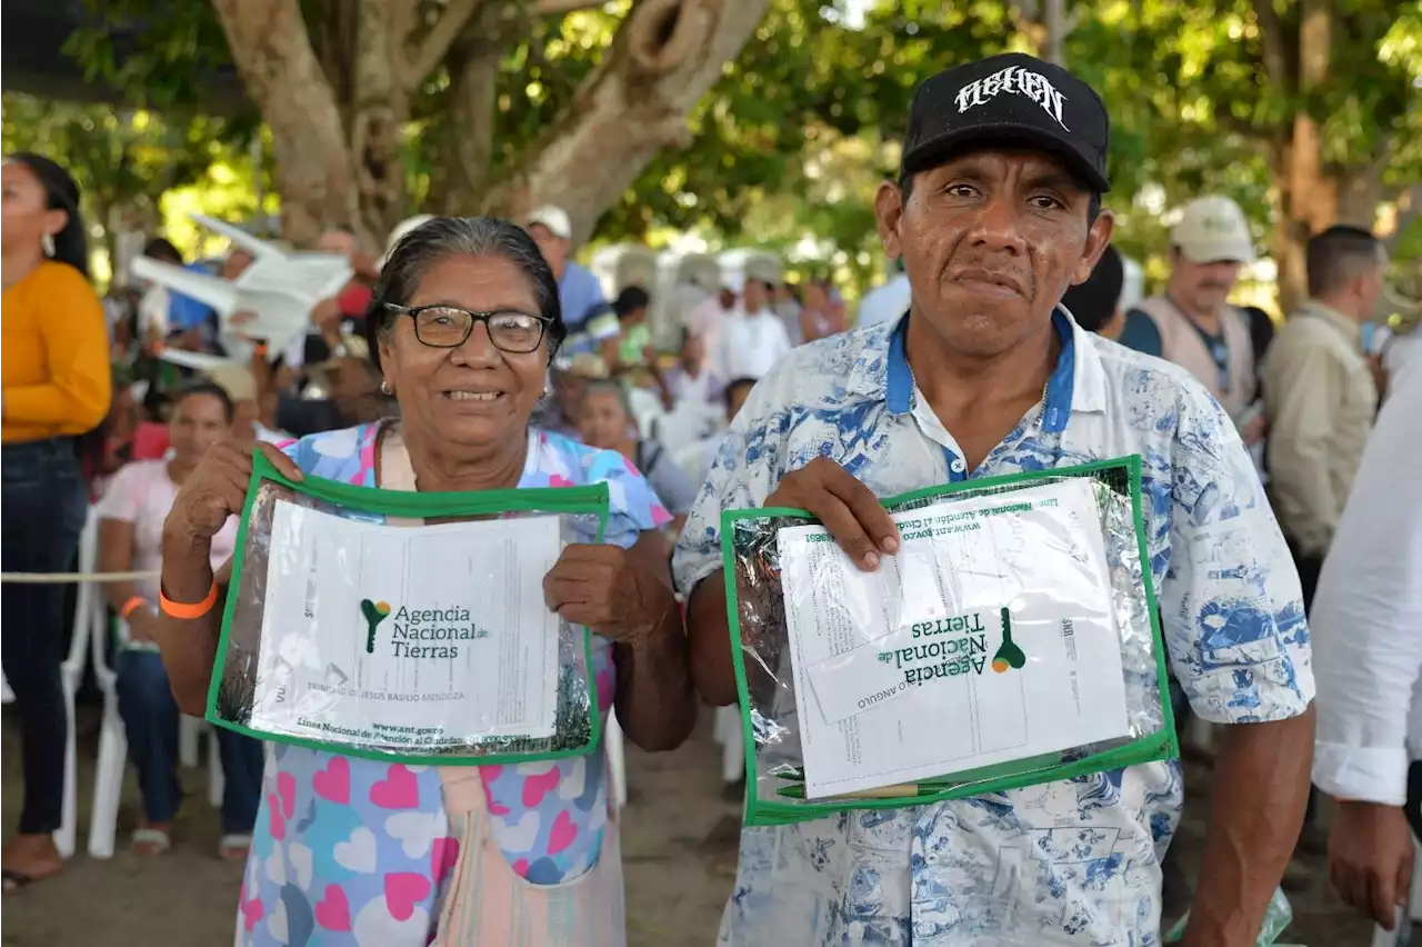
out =
<svg viewBox="0 0 1422 947"><path fill-rule="evenodd" d="M100 572L156 572L162 566L164 520L183 481L208 448L232 429L232 398L203 382L182 390L172 404L168 435L171 456L135 461L109 481L100 505ZM216 569L232 556L237 519L228 520L212 539ZM134 832L137 855L161 855L172 845L171 829L182 788L178 783L178 704L168 687L162 658L154 644L158 579L109 583L109 604L119 626L119 712L128 735L128 758L138 771L144 819ZM252 840L262 789L262 744L218 731L225 776L222 799L223 857L240 857Z"/></svg>

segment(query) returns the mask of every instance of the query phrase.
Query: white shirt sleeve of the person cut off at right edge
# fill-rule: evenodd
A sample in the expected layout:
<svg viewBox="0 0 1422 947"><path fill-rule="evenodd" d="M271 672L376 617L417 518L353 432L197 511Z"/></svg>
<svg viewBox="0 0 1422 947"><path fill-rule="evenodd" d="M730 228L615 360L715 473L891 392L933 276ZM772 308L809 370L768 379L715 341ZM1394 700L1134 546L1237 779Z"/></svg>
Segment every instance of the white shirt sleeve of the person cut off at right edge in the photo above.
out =
<svg viewBox="0 0 1422 947"><path fill-rule="evenodd" d="M1382 405L1314 597L1314 783L1401 806L1422 758L1422 371Z"/></svg>

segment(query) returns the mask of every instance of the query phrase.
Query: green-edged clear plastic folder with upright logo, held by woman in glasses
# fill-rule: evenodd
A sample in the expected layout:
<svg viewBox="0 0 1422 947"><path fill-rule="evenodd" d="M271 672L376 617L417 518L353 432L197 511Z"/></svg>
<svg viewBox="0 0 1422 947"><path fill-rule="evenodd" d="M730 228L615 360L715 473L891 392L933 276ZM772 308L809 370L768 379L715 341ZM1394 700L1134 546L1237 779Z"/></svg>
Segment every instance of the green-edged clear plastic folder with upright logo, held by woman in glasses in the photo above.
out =
<svg viewBox="0 0 1422 947"><path fill-rule="evenodd" d="M590 633L543 576L607 486L417 493L284 479L260 455L208 719L373 759L553 759L600 737Z"/></svg>

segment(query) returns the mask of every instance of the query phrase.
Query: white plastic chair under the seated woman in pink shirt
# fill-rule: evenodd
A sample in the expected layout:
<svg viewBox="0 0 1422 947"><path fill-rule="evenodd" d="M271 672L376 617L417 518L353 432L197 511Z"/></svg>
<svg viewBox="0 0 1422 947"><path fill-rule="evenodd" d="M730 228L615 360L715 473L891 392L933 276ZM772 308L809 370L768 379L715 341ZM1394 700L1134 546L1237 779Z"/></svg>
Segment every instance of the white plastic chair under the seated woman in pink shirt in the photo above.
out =
<svg viewBox="0 0 1422 947"><path fill-rule="evenodd" d="M128 737L124 732L124 718L118 712L118 675L108 665L104 654L102 628L105 624L102 603L98 603L95 614L95 633L92 636L94 675L98 678L100 690L104 692L104 718L98 732L98 766L94 772L94 808L90 816L90 857L114 857L114 843L118 836L118 803L124 795L124 771L128 768ZM128 630L119 620L119 640L128 640ZM178 755L185 766L198 764L199 738L203 722L196 717L181 717L178 724ZM186 754L191 752L191 762ZM225 778L222 774L222 755L218 752L218 735L209 732L208 741L208 803L212 808L222 805L222 791Z"/></svg>

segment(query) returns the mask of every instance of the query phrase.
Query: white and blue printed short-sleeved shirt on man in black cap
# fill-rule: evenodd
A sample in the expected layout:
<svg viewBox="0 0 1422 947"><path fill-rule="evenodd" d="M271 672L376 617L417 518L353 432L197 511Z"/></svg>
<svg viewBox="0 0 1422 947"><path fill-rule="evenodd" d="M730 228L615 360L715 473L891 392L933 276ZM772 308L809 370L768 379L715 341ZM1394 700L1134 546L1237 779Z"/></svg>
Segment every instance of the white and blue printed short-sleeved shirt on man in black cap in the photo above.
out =
<svg viewBox="0 0 1422 947"><path fill-rule="evenodd" d="M1166 646L1192 708L1223 724L1303 714L1314 681L1298 577L1234 427L1186 371L1055 323L1044 402L971 474L914 385L904 319L795 350L721 445L677 547L678 589L721 566L721 510L762 506L820 455L889 496L1139 454ZM1177 765L1156 762L747 828L720 943L1152 943L1182 798Z"/></svg>

